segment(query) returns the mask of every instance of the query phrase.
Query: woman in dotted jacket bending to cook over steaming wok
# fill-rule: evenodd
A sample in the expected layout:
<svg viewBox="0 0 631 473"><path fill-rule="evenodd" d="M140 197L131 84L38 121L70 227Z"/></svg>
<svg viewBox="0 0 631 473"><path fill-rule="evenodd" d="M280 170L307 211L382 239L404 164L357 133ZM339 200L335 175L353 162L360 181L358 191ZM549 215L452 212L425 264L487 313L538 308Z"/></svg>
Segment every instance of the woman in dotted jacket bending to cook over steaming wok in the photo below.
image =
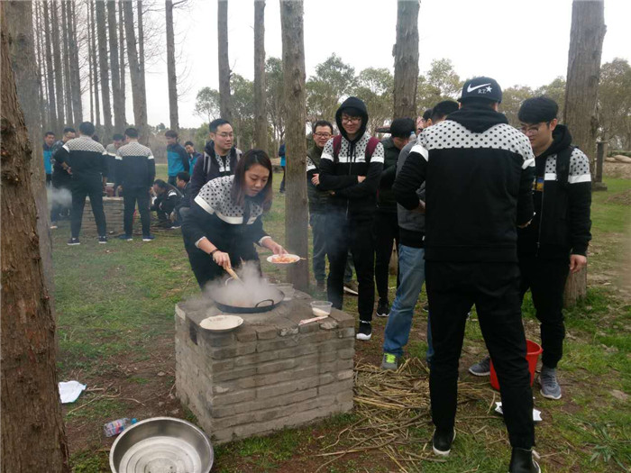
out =
<svg viewBox="0 0 631 473"><path fill-rule="evenodd" d="M234 176L203 186L182 223L184 246L199 287L223 277L241 260L258 261L253 243L274 254L286 251L263 231L261 216L271 206L271 161L263 150L249 150Z"/></svg>

